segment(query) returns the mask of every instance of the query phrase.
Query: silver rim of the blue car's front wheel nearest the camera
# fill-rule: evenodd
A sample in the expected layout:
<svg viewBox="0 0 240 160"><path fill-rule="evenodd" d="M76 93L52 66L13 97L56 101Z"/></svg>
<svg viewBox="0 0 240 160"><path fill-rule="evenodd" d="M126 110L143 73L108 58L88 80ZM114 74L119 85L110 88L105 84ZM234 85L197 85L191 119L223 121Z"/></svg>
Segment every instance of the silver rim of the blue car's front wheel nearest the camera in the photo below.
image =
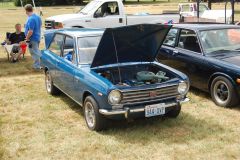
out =
<svg viewBox="0 0 240 160"><path fill-rule="evenodd" d="M90 102L85 104L85 118L89 127L94 127L96 122L95 111L93 105Z"/></svg>

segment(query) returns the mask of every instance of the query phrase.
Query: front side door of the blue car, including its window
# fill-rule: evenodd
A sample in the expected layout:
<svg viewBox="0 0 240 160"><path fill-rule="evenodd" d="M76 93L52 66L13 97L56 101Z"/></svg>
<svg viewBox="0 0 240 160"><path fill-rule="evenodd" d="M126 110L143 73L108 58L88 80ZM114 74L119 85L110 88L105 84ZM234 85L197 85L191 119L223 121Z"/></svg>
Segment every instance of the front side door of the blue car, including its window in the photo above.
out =
<svg viewBox="0 0 240 160"><path fill-rule="evenodd" d="M74 38L70 36L65 36L61 60L57 63L60 87L69 96L73 95L72 91L74 88L73 79L74 70L76 67L76 63L74 61L74 46Z"/></svg>

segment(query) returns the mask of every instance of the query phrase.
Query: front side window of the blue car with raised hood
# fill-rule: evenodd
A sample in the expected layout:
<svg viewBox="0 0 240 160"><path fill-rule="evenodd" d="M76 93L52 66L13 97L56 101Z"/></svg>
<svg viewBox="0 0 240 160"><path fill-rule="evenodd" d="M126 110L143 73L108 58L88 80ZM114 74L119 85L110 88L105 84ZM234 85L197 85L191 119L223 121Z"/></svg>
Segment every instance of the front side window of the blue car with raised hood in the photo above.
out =
<svg viewBox="0 0 240 160"><path fill-rule="evenodd" d="M75 62L74 55L75 55L74 39L72 37L66 36L65 42L63 45L63 58L70 62Z"/></svg>

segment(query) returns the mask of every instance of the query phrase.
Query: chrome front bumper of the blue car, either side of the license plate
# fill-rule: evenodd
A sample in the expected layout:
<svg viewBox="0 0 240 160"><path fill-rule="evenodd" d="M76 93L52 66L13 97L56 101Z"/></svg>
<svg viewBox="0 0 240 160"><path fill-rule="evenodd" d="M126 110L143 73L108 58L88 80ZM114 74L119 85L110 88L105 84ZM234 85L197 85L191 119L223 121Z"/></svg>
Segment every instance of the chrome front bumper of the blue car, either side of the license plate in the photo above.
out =
<svg viewBox="0 0 240 160"><path fill-rule="evenodd" d="M177 105L178 103L182 104L185 102L188 102L189 98L182 99L178 102L171 102L171 103L166 103L166 108L172 107ZM125 118L129 117L129 114L131 113L139 113L139 112L144 112L145 107L139 107L139 108L123 108L123 109L116 109L116 110L107 110L107 109L99 109L99 113L105 116L112 116L112 115L124 115Z"/></svg>

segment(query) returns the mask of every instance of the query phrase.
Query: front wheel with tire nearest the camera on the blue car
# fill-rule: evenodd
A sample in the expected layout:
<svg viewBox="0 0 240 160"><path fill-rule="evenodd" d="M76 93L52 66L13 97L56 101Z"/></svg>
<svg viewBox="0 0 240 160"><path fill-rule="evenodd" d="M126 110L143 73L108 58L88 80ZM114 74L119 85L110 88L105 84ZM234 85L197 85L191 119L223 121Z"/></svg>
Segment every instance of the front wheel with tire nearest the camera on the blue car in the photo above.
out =
<svg viewBox="0 0 240 160"><path fill-rule="evenodd" d="M99 107L95 99L92 96L86 97L83 106L84 118L88 128L92 131L101 131L107 127L107 120L99 113L98 109ZM93 117L91 117L90 114L92 114Z"/></svg>

